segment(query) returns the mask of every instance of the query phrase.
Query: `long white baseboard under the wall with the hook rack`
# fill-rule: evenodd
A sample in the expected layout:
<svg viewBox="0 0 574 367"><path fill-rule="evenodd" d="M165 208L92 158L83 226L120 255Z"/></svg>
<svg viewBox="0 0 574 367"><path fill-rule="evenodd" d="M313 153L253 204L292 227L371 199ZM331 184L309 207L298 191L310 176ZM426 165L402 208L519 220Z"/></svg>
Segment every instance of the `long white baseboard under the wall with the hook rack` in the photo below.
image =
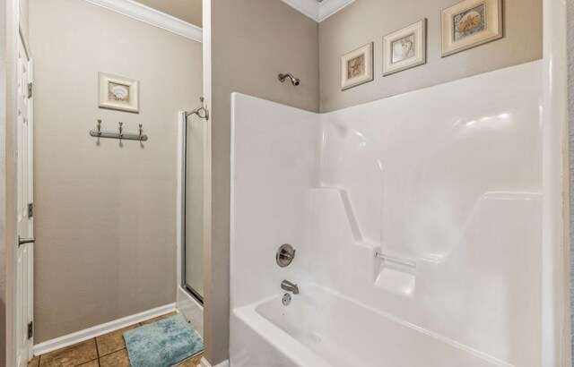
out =
<svg viewBox="0 0 574 367"><path fill-rule="evenodd" d="M84 340L91 339L92 337L100 337L100 335L108 334L118 329L126 328L134 325L137 322L153 319L164 315L169 312L176 311L176 303L166 304L152 310L136 313L135 315L126 316L122 319L106 322L89 329L76 331L75 333L65 335L64 337L57 337L34 346L34 355L46 354L54 350L63 348L65 346L73 346L76 343L83 342Z"/></svg>

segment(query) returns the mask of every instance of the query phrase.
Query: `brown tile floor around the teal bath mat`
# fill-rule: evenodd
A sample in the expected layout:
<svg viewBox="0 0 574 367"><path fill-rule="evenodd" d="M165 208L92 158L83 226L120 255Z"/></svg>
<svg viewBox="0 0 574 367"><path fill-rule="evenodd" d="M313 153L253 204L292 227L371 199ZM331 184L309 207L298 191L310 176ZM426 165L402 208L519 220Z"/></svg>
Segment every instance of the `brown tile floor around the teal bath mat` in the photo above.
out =
<svg viewBox="0 0 574 367"><path fill-rule="evenodd" d="M74 346L66 346L54 352L39 355L28 363L28 367L130 367L126 344L124 343L124 332L175 314L176 312L171 312L101 337L94 337ZM202 354L198 354L183 363L179 363L178 366L196 367L201 357Z"/></svg>

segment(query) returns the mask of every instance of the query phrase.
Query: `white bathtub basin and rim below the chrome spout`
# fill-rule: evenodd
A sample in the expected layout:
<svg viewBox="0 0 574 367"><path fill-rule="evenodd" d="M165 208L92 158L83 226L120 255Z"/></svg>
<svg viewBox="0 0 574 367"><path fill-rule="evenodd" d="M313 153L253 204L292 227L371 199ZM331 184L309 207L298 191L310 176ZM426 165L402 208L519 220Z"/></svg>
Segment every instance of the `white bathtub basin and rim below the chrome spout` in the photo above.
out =
<svg viewBox="0 0 574 367"><path fill-rule="evenodd" d="M282 297L232 311L240 335L232 366L510 366L325 287L301 286L287 306ZM242 345L257 355L241 355Z"/></svg>

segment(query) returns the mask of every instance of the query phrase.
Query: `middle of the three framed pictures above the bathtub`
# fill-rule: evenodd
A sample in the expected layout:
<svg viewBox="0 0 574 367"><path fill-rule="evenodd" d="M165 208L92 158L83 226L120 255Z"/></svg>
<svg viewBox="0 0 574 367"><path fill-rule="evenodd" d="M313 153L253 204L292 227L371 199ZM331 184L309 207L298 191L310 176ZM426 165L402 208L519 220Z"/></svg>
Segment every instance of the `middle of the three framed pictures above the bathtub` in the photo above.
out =
<svg viewBox="0 0 574 367"><path fill-rule="evenodd" d="M383 76L427 62L427 20L417 21L383 38Z"/></svg>

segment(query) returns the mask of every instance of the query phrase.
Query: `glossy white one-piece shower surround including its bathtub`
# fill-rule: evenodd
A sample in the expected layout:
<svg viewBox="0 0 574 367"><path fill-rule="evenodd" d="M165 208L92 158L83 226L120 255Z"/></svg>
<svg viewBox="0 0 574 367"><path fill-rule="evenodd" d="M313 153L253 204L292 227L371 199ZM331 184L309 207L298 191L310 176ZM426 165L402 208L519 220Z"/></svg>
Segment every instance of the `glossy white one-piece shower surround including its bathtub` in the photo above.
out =
<svg viewBox="0 0 574 367"><path fill-rule="evenodd" d="M231 366L540 365L541 80L325 115L233 94Z"/></svg>

